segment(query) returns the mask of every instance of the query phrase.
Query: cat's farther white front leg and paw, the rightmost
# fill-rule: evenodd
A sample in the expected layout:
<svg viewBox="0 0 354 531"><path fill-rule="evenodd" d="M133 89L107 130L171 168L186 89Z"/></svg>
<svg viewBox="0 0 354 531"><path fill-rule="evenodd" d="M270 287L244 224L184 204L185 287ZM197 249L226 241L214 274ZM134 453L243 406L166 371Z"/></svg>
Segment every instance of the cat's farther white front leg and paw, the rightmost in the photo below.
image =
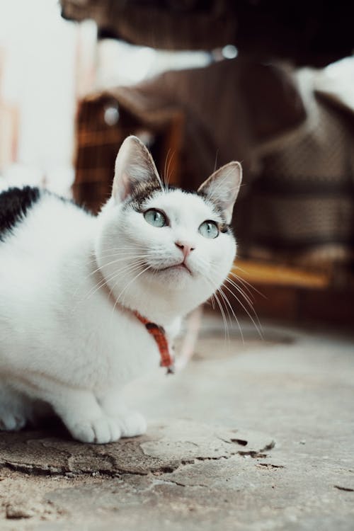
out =
<svg viewBox="0 0 354 531"><path fill-rule="evenodd" d="M97 398L103 411L118 422L121 437L136 437L146 432L147 421L138 411L131 411L125 407L120 392L115 389L110 390Z"/></svg>

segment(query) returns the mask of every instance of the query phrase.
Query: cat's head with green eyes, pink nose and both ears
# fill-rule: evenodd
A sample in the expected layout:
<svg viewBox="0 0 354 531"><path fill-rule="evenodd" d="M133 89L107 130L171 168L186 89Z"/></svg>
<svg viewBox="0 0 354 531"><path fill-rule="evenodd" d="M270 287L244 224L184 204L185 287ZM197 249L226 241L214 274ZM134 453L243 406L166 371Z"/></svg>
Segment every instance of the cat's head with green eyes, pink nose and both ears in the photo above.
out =
<svg viewBox="0 0 354 531"><path fill-rule="evenodd" d="M196 193L168 188L144 144L125 139L96 240L118 302L161 323L205 302L234 261L229 224L240 184L241 165L230 162Z"/></svg>

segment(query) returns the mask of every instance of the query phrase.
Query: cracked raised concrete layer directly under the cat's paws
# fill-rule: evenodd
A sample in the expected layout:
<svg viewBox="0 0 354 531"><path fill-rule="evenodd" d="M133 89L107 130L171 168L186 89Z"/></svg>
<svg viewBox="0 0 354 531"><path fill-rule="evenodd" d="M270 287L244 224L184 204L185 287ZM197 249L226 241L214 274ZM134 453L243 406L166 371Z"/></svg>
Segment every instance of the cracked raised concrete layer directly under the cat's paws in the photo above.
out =
<svg viewBox="0 0 354 531"><path fill-rule="evenodd" d="M236 433L236 429L178 419L173 423L171 419L152 423L147 435L108 445L62 440L68 436L64 430L57 437L43 437L42 431L2 433L0 466L34 475L147 475L173 472L181 464L205 459L228 459L237 454L263 456L266 449L275 445L266 435L252 432L247 435L249 440L242 440L240 445L234 439ZM244 442L248 450L244 450Z"/></svg>

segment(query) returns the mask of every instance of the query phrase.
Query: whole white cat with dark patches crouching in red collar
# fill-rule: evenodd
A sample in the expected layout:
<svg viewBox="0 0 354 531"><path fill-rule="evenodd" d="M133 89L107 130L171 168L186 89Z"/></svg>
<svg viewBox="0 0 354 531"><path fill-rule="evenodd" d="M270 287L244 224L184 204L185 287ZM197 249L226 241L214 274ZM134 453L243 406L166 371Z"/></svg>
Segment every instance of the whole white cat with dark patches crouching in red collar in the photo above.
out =
<svg viewBox="0 0 354 531"><path fill-rule="evenodd" d="M227 277L240 184L233 161L196 193L164 186L130 136L96 217L39 188L0 194L1 430L50 408L82 442L145 432L122 387L159 365L159 341L171 348Z"/></svg>

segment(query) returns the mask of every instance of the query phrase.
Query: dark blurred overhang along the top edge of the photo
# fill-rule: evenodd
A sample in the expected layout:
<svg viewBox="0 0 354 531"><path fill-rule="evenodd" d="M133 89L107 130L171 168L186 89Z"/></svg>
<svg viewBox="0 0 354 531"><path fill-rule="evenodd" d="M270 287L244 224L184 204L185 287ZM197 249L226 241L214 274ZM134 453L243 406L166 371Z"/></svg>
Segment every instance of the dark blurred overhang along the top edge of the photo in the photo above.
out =
<svg viewBox="0 0 354 531"><path fill-rule="evenodd" d="M235 45L258 60L323 67L354 49L354 2L309 0L61 0L99 36L164 50Z"/></svg>

